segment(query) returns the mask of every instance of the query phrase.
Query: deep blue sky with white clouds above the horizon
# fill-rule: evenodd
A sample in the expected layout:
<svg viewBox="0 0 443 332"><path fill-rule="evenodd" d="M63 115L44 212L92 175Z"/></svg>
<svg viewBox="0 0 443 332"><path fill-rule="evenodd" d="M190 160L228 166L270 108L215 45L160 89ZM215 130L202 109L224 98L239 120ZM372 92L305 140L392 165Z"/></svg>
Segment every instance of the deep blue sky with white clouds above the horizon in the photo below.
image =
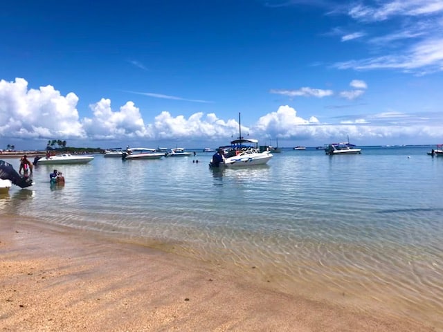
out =
<svg viewBox="0 0 443 332"><path fill-rule="evenodd" d="M443 143L443 0L6 1L0 149ZM241 118L239 117L241 114Z"/></svg>

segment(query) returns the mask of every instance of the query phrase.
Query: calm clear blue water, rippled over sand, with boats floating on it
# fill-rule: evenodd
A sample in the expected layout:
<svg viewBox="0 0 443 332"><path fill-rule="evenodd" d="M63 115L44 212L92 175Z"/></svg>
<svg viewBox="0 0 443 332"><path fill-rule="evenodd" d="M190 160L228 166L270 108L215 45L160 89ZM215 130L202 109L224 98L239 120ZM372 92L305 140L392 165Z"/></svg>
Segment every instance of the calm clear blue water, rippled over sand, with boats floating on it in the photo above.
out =
<svg viewBox="0 0 443 332"><path fill-rule="evenodd" d="M201 150L97 155L87 165L38 165L33 187L0 197L0 216L233 264L280 291L443 331L443 157L427 156L431 148L284 149L262 167L217 171ZM18 169L18 159L6 161ZM53 168L64 187L50 185Z"/></svg>

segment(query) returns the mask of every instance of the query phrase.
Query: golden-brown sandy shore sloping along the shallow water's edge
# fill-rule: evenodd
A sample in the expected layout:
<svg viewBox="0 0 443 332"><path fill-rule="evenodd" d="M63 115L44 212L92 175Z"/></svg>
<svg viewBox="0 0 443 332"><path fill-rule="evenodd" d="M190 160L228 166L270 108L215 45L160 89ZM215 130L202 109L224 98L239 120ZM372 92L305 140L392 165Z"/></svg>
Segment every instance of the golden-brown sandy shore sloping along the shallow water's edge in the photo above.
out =
<svg viewBox="0 0 443 332"><path fill-rule="evenodd" d="M0 216L1 331L437 331L235 267Z"/></svg>

